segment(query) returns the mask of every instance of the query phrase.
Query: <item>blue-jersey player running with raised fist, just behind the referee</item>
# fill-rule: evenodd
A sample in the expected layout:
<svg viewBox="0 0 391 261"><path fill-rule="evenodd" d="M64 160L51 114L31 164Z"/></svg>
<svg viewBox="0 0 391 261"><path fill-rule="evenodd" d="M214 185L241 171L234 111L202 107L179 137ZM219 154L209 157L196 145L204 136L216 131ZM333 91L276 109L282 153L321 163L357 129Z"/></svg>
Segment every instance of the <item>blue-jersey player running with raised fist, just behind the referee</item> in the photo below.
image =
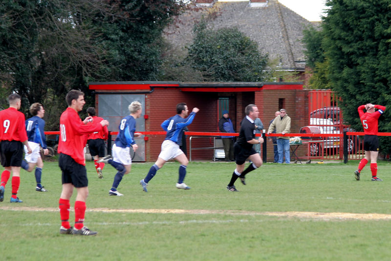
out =
<svg viewBox="0 0 391 261"><path fill-rule="evenodd" d="M193 111L186 118L189 113L189 109L187 108L186 103L179 103L176 105L176 115L165 120L161 127L163 130L167 131L166 138L162 143L162 150L150 171L146 175L146 177L140 180L140 184L143 187L145 192L147 191L148 182L152 179L152 177L156 174L156 172L163 167L163 165L170 159L175 159L180 163L179 166L179 178L178 183L176 183L177 189L185 189L189 190L183 180L186 176L186 167L189 164L189 160L187 159L185 153L183 153L179 149L179 142L182 138L183 131L182 129L193 122L195 117L195 113L199 111L198 108L193 108Z"/></svg>

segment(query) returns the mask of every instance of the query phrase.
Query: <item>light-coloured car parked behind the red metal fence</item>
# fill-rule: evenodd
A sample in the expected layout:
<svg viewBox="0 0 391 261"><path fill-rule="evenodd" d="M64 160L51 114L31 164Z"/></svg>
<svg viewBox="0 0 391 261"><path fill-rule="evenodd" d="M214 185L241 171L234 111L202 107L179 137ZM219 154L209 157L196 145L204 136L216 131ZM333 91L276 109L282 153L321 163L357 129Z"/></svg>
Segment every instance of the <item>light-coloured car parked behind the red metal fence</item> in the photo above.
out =
<svg viewBox="0 0 391 261"><path fill-rule="evenodd" d="M320 134L340 134L336 125L331 119L311 118L309 126L300 128L299 133L320 133ZM342 140L337 136L330 137L302 137L303 140L319 141L311 142L310 155L319 156L322 150L335 152L340 148ZM356 152L356 142L354 137L348 137L348 153Z"/></svg>

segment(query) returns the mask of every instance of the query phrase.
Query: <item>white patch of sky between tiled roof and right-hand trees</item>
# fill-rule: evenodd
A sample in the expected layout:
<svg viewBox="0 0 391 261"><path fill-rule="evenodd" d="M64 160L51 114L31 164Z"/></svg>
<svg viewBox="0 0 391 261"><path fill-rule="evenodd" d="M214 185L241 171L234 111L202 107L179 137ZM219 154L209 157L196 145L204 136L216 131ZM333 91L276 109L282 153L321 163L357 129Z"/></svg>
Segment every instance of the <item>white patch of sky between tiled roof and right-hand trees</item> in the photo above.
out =
<svg viewBox="0 0 391 261"><path fill-rule="evenodd" d="M310 22L321 21L326 0L278 0ZM324 15L324 14L323 14Z"/></svg>

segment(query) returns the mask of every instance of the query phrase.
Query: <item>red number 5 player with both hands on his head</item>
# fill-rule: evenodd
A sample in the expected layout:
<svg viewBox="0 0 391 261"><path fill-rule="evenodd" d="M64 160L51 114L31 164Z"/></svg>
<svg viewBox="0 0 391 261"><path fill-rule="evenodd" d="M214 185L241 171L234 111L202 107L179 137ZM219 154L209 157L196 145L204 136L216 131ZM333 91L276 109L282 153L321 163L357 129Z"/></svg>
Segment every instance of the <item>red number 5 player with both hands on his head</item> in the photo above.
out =
<svg viewBox="0 0 391 261"><path fill-rule="evenodd" d="M367 112L364 113L364 109ZM375 109L377 109L375 111ZM370 159L370 171L372 173L372 181L383 181L377 177L377 154L379 153L378 120L383 114L386 107L381 105L366 104L358 107L361 123L364 128L364 151L365 157L358 164L358 169L354 172L357 180L360 180L360 172L367 165Z"/></svg>

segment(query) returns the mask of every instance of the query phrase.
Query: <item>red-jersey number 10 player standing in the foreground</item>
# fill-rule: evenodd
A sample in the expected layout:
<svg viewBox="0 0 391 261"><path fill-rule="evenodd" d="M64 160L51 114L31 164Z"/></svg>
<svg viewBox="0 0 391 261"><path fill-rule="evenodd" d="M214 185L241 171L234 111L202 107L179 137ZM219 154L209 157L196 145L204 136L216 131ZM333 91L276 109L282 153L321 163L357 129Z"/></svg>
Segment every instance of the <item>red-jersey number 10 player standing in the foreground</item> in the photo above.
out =
<svg viewBox="0 0 391 261"><path fill-rule="evenodd" d="M94 131L100 131L109 125L107 120L90 122L88 116L84 121L78 114L85 105L84 93L79 90L71 90L65 97L68 108L60 117L60 153L58 164L62 171L63 190L59 200L61 227L60 234L73 234L95 236L98 232L90 231L83 225L86 213L86 199L88 196L88 179L84 147L87 143L87 135ZM69 225L69 199L73 189L76 188L75 201L75 226Z"/></svg>

